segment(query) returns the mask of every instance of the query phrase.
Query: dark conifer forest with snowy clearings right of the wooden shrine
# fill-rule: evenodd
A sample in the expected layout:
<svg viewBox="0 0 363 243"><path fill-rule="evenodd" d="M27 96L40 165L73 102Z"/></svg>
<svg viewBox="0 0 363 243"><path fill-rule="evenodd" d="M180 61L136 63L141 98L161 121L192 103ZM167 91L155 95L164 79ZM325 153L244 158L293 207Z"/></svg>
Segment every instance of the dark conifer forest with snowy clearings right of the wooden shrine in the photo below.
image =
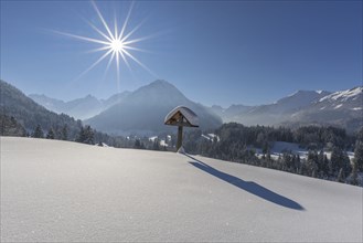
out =
<svg viewBox="0 0 363 243"><path fill-rule="evenodd" d="M359 172L363 172L363 128L356 135L348 135L337 127L307 126L297 129L286 127L246 127L241 124L224 124L220 128L204 133L218 136L203 139L201 130L184 136L188 152L222 160L266 167L308 177L362 184ZM273 158L275 141L298 144L309 152L301 158L293 151L284 151ZM261 151L257 156L256 149ZM346 151L354 151L351 161ZM331 156L328 158L327 152Z"/></svg>

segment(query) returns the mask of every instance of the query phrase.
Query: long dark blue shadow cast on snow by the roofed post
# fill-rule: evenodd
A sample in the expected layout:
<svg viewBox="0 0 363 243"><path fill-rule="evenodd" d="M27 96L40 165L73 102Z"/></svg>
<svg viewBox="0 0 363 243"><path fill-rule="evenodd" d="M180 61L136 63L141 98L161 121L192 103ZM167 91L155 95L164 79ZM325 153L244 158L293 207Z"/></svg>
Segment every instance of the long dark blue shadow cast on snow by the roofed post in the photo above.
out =
<svg viewBox="0 0 363 243"><path fill-rule="evenodd" d="M185 155L185 154L184 154ZM192 166L196 167L197 169L203 170L204 172L207 172L221 180L224 180L242 190L248 191L252 194L255 194L261 199L265 199L266 201L276 203L278 205L285 207L285 208L289 208L289 209L293 209L293 210L301 210L305 211L305 208L302 205L300 205L299 203L297 203L296 201L288 199L284 196L280 196L258 183L255 183L253 181L244 181L237 177L231 176L228 173L222 172L220 170L214 169L213 167L189 156L185 155L189 158L195 160L193 162L189 162Z"/></svg>

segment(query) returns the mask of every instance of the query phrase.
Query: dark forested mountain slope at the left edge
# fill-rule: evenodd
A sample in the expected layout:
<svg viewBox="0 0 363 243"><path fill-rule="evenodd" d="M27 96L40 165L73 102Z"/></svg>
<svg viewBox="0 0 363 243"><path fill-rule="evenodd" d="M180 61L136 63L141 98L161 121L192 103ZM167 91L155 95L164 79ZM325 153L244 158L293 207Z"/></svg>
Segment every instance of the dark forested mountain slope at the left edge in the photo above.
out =
<svg viewBox="0 0 363 243"><path fill-rule="evenodd" d="M44 131L47 131L51 127L54 131L58 131L66 126L70 138L74 138L78 131L79 122L65 114L58 115L47 110L14 86L1 80L0 91L0 116L15 118L17 123L28 131L34 130L38 124L41 125Z"/></svg>

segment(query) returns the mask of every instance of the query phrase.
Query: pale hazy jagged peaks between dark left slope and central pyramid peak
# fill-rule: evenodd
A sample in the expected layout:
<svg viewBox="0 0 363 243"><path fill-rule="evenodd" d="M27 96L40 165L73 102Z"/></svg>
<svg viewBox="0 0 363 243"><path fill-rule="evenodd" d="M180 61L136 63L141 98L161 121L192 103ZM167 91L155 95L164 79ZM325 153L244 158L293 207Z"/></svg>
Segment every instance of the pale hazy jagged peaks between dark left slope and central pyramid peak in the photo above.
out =
<svg viewBox="0 0 363 243"><path fill-rule="evenodd" d="M92 95L87 95L86 97L73 99L70 102L63 102L38 94L30 94L29 97L38 104L57 114L64 113L77 119L87 119L121 102L128 94L129 92L124 92L113 95L107 99L97 99Z"/></svg>

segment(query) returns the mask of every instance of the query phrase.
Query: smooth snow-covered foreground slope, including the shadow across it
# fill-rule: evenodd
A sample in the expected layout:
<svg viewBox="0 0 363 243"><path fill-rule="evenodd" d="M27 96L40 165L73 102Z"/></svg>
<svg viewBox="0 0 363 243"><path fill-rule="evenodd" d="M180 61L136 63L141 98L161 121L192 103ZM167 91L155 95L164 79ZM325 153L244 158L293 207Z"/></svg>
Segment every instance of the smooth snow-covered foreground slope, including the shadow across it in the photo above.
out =
<svg viewBox="0 0 363 243"><path fill-rule="evenodd" d="M199 156L1 137L1 242L362 242L362 196Z"/></svg>

